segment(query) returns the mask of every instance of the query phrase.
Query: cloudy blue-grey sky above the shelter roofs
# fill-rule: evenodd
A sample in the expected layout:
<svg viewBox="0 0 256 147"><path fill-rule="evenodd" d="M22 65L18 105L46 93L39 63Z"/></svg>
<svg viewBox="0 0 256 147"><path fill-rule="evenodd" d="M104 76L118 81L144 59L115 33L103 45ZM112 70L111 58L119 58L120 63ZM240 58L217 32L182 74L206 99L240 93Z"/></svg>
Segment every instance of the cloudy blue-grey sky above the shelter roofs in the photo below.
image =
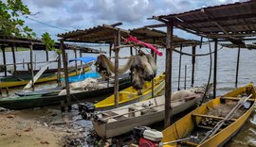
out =
<svg viewBox="0 0 256 147"><path fill-rule="evenodd" d="M235 3L242 0L23 0L33 15L24 19L40 37L48 32L54 39L66 30L84 29L99 24L115 24L130 29L146 24L153 15L171 14L195 8ZM245 0L243 0L245 1ZM36 21L45 23L41 24ZM46 24L52 25L48 26ZM56 26L58 28L55 28ZM175 35L190 38L182 31Z"/></svg>

